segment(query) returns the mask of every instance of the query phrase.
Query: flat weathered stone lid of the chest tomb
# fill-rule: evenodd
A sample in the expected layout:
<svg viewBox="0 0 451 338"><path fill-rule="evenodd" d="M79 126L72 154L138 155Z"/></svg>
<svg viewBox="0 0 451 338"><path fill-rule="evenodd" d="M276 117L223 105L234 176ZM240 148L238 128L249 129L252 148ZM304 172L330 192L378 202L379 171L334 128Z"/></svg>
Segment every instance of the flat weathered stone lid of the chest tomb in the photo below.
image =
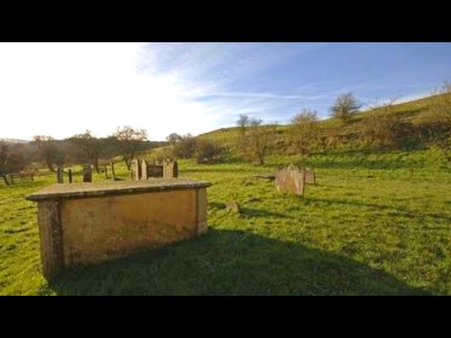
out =
<svg viewBox="0 0 451 338"><path fill-rule="evenodd" d="M29 201L47 199L73 199L84 197L114 196L123 194L141 194L144 192L162 192L168 190L197 189L210 187L207 181L180 178L149 178L146 181L63 183L46 187L39 192L26 196Z"/></svg>

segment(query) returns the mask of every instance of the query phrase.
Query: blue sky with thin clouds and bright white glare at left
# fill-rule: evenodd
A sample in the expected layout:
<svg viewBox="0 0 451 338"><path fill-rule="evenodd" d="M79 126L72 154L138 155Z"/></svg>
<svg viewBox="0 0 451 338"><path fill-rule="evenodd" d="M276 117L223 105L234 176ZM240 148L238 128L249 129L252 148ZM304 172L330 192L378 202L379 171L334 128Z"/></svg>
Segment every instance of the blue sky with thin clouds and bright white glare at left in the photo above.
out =
<svg viewBox="0 0 451 338"><path fill-rule="evenodd" d="M57 139L119 126L193 135L240 114L288 123L329 115L352 92L365 105L428 96L451 81L451 43L0 43L0 138Z"/></svg>

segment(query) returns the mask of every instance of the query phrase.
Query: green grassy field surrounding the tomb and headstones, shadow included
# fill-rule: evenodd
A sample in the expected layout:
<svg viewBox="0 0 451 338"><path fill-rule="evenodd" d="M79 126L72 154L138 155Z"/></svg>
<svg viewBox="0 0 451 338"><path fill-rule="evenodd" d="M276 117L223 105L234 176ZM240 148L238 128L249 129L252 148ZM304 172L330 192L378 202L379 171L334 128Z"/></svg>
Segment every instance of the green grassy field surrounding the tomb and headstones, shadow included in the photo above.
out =
<svg viewBox="0 0 451 338"><path fill-rule="evenodd" d="M318 184L304 197L252 177L288 163L316 169ZM54 176L0 185L0 294L451 295L451 173L434 150L179 168L181 177L214 184L209 232L51 284L40 273L36 206L24 196ZM226 210L226 201L242 213Z"/></svg>

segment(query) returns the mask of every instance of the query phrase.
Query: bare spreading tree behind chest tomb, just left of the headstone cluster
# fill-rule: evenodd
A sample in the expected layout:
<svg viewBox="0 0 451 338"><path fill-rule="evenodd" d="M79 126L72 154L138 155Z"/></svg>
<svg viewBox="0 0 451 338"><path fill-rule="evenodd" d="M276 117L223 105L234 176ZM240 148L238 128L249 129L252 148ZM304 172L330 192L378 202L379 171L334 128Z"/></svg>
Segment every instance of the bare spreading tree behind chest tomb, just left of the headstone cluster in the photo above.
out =
<svg viewBox="0 0 451 338"><path fill-rule="evenodd" d="M128 125L122 128L118 127L113 134L113 139L116 139L118 151L121 152L123 161L130 170L130 164L136 151L140 150L142 143L147 140L147 130L135 130Z"/></svg>

